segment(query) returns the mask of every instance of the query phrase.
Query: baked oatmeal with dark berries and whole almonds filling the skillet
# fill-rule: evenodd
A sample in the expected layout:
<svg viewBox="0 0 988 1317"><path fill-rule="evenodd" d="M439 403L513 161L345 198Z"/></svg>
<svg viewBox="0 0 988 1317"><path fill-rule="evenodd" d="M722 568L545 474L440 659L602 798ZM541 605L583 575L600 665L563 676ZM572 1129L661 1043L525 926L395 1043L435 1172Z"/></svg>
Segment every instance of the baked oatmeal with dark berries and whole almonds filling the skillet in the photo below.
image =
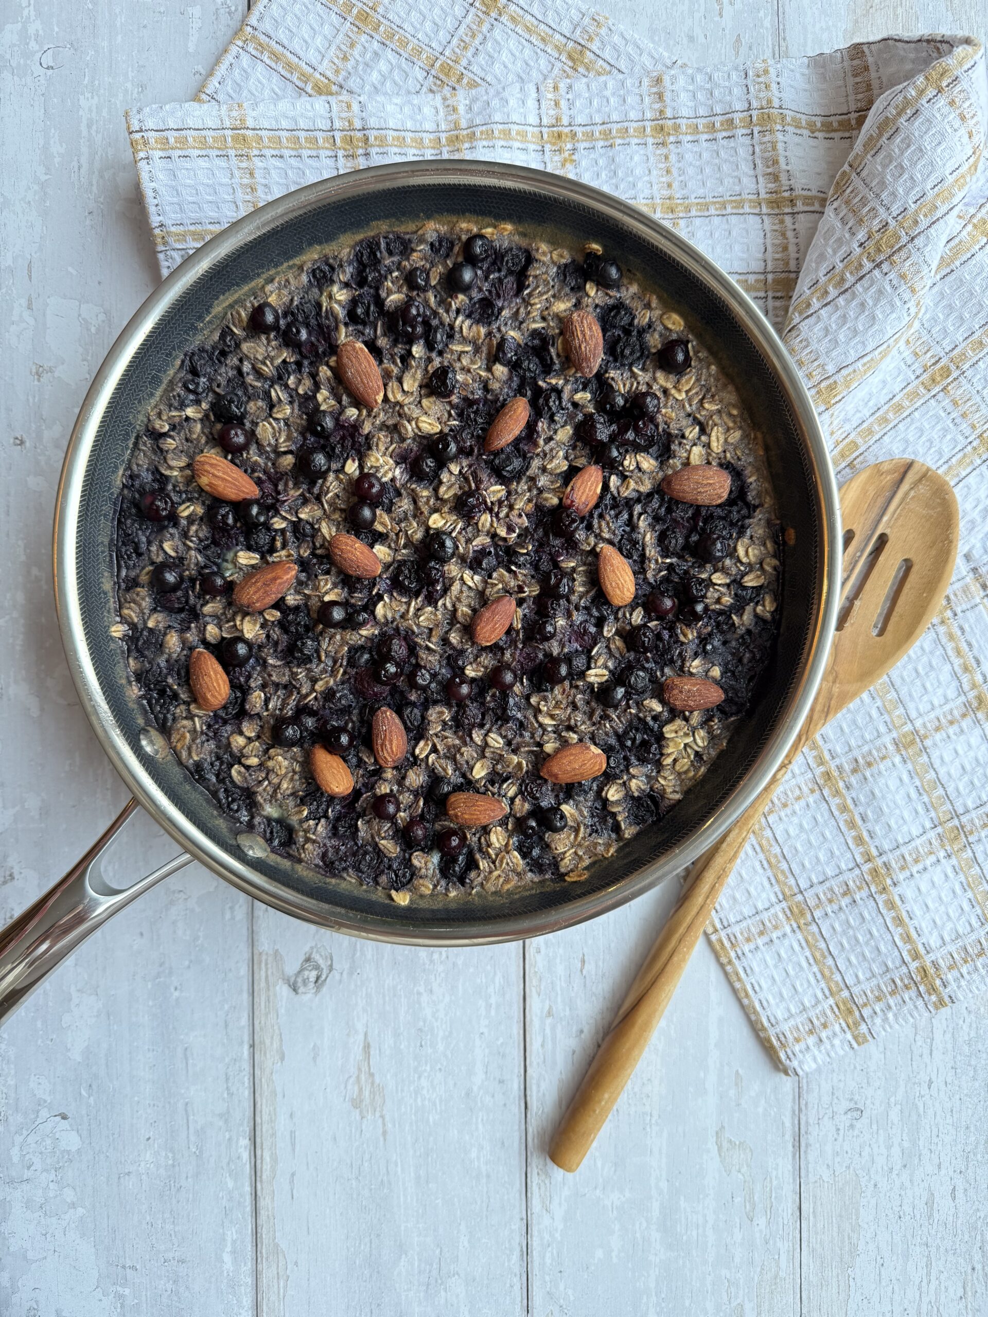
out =
<svg viewBox="0 0 988 1317"><path fill-rule="evenodd" d="M677 312L594 242L451 219L281 271L186 354L113 632L238 828L400 903L501 892L578 881L703 773L779 543Z"/></svg>

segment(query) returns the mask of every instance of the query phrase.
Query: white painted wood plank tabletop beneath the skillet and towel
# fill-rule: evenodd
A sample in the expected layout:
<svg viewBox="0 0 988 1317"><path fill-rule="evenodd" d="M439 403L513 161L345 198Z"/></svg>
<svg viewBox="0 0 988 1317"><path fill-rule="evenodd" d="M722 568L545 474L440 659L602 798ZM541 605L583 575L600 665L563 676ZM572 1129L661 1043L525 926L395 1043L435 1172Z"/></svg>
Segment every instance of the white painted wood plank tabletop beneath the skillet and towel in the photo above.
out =
<svg viewBox="0 0 988 1317"><path fill-rule="evenodd" d="M984 33L979 0L598 0L688 62ZM0 919L125 798L79 711L49 525L86 385L155 282L126 105L241 0L0 17ZM125 863L167 853L150 824ZM526 947L337 938L202 869L0 1033L3 1317L988 1312L988 1004L797 1083L706 946L578 1176L553 1121L672 893Z"/></svg>

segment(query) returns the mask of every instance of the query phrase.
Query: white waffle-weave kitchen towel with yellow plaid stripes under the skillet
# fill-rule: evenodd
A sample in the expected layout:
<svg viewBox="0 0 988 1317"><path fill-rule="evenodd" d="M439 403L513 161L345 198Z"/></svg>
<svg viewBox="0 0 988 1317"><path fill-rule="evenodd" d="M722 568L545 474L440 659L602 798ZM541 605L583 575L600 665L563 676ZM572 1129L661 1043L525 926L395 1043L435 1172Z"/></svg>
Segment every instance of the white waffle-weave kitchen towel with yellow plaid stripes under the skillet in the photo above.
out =
<svg viewBox="0 0 988 1317"><path fill-rule="evenodd" d="M987 105L967 37L689 70L564 0L260 0L198 101L129 115L165 273L346 170L555 170L759 302L839 475L908 456L952 482L943 610L798 761L709 928L790 1072L988 988Z"/></svg>

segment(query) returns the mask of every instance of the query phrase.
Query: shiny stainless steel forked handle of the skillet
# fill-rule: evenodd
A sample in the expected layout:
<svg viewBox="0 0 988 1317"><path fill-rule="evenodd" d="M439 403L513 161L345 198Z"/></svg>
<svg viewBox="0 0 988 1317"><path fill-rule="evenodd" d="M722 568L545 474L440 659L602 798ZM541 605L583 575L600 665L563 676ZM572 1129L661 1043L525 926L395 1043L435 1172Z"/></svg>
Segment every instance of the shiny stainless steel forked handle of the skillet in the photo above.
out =
<svg viewBox="0 0 988 1317"><path fill-rule="evenodd" d="M0 1023L112 914L192 863L191 855L177 855L130 886L111 888L103 878L101 859L136 809L137 802L128 801L69 873L0 932Z"/></svg>

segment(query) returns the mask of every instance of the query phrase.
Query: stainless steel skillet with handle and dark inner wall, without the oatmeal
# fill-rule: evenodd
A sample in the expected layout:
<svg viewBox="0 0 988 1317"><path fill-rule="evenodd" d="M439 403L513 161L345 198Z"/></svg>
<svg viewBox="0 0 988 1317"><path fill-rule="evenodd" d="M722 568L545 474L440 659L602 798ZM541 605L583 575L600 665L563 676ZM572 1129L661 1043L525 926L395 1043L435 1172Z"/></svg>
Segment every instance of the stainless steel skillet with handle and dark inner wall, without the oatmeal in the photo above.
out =
<svg viewBox="0 0 988 1317"><path fill-rule="evenodd" d="M111 545L133 436L184 350L275 269L361 230L440 215L508 220L560 241L601 242L680 307L734 375L765 435L788 549L771 681L713 768L663 820L581 884L398 906L387 893L327 878L238 832L167 749L137 698L115 622ZM341 175L261 207L200 248L145 302L100 367L66 454L55 515L55 599L72 680L134 801L182 853L126 889L100 877L132 802L55 888L0 935L0 1018L109 914L196 859L250 896L358 936L432 946L506 942L563 928L678 872L730 827L775 772L809 709L834 630L839 506L823 436L780 340L748 298L673 230L569 179L470 161L403 163Z"/></svg>

